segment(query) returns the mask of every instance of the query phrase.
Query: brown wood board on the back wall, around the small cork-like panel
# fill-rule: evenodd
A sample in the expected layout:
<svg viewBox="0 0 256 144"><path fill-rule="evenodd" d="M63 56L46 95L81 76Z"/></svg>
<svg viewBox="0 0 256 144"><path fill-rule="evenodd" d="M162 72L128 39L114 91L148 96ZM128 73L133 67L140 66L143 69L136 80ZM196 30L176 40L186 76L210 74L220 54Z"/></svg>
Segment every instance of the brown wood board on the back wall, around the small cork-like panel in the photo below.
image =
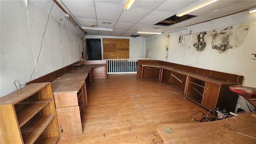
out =
<svg viewBox="0 0 256 144"><path fill-rule="evenodd" d="M129 39L102 38L103 48L104 44L116 44L116 52L103 52L103 59L130 58L129 42Z"/></svg>

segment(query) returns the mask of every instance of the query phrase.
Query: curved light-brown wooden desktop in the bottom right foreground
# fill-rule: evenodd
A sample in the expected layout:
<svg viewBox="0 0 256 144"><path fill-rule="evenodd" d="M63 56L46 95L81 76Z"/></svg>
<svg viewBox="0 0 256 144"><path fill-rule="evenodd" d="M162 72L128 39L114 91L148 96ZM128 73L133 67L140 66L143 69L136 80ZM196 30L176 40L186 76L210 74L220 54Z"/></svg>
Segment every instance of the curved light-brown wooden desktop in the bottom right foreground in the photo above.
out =
<svg viewBox="0 0 256 144"><path fill-rule="evenodd" d="M171 128L172 134L164 128ZM163 124L157 131L165 144L255 144L256 112L247 112L214 122Z"/></svg>

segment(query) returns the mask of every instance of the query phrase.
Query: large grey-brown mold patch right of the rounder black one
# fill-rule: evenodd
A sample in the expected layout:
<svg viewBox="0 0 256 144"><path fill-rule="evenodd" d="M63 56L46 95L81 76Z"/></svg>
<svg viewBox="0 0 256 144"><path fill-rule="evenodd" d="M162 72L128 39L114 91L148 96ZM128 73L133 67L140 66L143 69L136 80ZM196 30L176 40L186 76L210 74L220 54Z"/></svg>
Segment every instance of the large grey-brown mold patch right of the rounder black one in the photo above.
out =
<svg viewBox="0 0 256 144"><path fill-rule="evenodd" d="M230 45L230 39L232 37L232 26L220 30L217 32L213 30L212 32L212 49L218 50L218 52L223 53L226 50L233 48Z"/></svg>

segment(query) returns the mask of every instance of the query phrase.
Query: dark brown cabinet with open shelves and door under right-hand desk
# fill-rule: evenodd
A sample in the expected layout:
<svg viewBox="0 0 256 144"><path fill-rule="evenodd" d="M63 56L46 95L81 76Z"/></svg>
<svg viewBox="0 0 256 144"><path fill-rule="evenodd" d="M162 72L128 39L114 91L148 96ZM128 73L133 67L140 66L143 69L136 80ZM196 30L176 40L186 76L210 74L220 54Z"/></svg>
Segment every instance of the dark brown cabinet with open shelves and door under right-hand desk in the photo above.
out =
<svg viewBox="0 0 256 144"><path fill-rule="evenodd" d="M204 76L189 76L186 98L208 110L225 108L234 112L238 96L229 91L234 82L216 80Z"/></svg>

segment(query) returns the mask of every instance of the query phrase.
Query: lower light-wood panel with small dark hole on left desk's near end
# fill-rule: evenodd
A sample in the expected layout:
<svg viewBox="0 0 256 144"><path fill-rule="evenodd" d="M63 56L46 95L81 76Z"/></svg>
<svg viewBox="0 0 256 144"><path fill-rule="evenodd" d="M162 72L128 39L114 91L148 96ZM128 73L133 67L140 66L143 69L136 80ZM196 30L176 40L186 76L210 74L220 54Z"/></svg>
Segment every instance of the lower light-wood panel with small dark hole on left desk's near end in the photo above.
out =
<svg viewBox="0 0 256 144"><path fill-rule="evenodd" d="M56 109L60 138L83 134L79 106Z"/></svg>

